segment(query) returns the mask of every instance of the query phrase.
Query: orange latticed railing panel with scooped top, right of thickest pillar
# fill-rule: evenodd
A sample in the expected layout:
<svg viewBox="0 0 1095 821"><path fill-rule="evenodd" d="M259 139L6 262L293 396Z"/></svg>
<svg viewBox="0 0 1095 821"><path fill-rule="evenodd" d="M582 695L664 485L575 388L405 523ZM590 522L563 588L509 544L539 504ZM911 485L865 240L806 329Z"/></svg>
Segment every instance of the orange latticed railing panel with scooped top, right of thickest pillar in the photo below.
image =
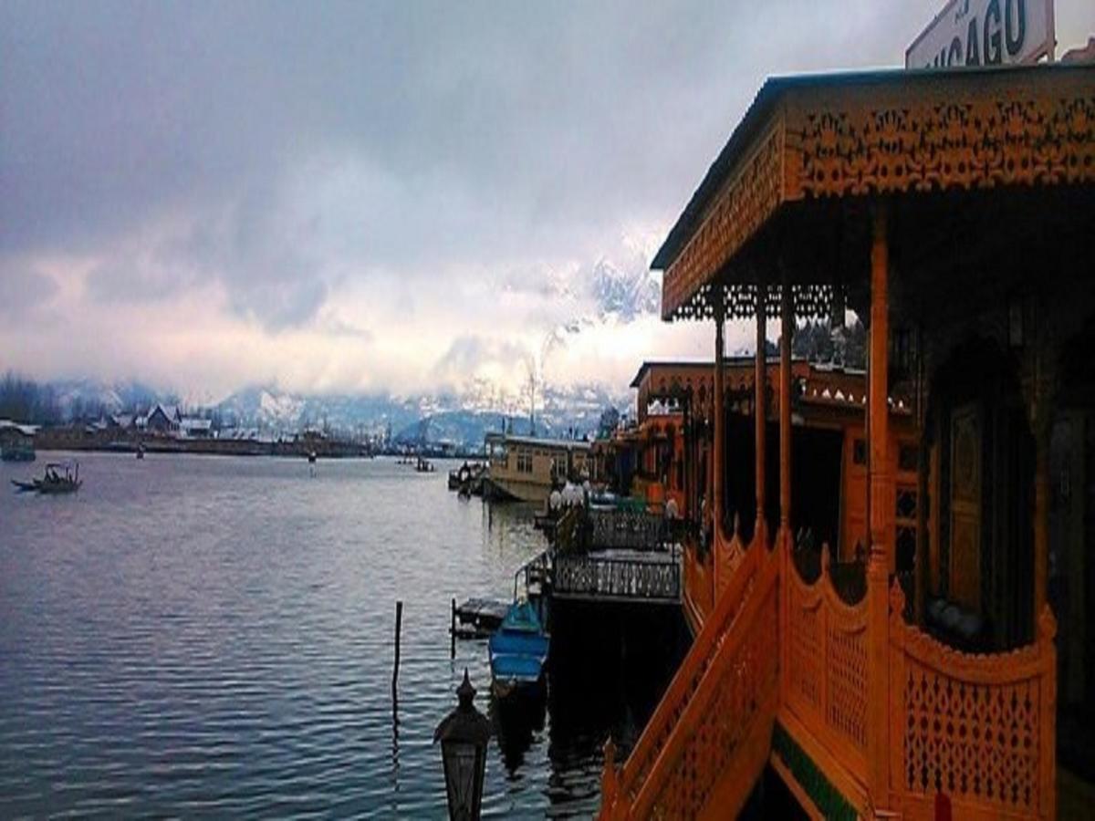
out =
<svg viewBox="0 0 1095 821"><path fill-rule="evenodd" d="M1053 818L1057 626L1049 608L1034 645L970 655L906 624L890 589L890 782L900 809L929 816L937 794L954 818Z"/></svg>

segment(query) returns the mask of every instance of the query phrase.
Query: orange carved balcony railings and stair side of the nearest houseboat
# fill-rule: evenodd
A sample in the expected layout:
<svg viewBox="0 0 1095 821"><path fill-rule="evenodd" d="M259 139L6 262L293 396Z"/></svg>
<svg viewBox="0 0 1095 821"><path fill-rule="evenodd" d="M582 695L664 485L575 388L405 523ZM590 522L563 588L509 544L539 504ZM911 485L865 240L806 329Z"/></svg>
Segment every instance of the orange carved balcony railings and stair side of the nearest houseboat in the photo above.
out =
<svg viewBox="0 0 1095 821"><path fill-rule="evenodd" d="M601 817L733 814L771 763L827 817L945 800L956 818L1052 818L1048 610L1034 645L998 655L946 647L904 610L896 581L849 604L827 556L808 583L789 540L750 545L622 767L607 748Z"/></svg>

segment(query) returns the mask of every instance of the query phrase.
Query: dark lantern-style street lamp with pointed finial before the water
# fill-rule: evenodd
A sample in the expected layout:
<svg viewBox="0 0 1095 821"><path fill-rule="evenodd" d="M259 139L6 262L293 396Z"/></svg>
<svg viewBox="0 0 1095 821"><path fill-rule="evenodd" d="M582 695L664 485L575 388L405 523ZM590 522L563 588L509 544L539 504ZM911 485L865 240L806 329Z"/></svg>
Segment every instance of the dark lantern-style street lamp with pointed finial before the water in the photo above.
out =
<svg viewBox="0 0 1095 821"><path fill-rule="evenodd" d="M452 821L477 821L483 802L483 773L486 770L486 742L491 722L475 709L475 687L468 679L457 687L459 704L434 731L434 743L441 742L445 765L445 791L449 797Z"/></svg>

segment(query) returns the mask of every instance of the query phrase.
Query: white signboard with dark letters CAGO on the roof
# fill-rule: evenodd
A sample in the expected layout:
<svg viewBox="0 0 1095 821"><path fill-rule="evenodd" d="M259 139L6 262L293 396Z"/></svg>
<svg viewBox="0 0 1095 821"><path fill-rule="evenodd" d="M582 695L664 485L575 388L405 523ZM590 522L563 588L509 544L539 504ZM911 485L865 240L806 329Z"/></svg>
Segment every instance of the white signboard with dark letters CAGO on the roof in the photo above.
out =
<svg viewBox="0 0 1095 821"><path fill-rule="evenodd" d="M906 68L1007 66L1053 57L1053 0L950 0L904 53Z"/></svg>

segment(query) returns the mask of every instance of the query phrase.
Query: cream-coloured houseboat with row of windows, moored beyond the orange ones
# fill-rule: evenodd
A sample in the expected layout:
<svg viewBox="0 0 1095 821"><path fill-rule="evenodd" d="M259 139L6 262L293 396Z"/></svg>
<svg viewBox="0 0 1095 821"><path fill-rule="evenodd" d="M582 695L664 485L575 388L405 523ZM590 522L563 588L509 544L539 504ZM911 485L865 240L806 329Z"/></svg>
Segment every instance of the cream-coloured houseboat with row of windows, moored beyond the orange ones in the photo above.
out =
<svg viewBox="0 0 1095 821"><path fill-rule="evenodd" d="M483 494L489 498L544 502L567 479L588 477L590 444L580 439L487 433L485 444L489 473Z"/></svg>

